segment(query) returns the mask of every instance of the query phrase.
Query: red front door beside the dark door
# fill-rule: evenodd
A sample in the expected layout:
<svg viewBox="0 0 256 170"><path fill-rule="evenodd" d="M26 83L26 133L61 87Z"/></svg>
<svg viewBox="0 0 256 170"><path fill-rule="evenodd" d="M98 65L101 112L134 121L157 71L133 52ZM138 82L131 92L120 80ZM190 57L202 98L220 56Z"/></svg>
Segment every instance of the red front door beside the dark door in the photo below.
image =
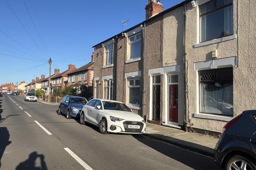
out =
<svg viewBox="0 0 256 170"><path fill-rule="evenodd" d="M169 85L169 122L178 123L178 84Z"/></svg>

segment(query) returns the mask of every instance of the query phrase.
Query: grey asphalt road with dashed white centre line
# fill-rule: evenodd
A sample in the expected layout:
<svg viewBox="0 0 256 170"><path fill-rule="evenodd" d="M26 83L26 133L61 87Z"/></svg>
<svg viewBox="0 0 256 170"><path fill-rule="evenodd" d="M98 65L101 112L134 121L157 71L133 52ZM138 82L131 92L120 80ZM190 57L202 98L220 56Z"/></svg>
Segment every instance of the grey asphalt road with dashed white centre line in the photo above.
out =
<svg viewBox="0 0 256 170"><path fill-rule="evenodd" d="M101 134L57 109L0 98L0 169L218 169L212 158L143 135Z"/></svg>

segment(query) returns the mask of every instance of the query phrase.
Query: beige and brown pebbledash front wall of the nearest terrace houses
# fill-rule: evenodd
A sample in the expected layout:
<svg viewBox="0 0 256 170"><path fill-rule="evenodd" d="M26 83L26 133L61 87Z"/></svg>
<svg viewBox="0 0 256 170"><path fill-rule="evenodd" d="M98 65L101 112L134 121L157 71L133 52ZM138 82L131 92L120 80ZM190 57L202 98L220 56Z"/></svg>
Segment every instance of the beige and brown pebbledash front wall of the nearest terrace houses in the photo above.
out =
<svg viewBox="0 0 256 170"><path fill-rule="evenodd" d="M94 46L94 98L96 86L98 98L105 98L103 80L113 79L113 99L129 104L127 78L140 78L140 104L130 107L153 120L153 77L160 75L159 124L219 133L227 121L244 110L255 109L252 101L256 97L256 3L233 0L233 34L200 43L199 6L207 2L197 0L193 6L191 1L185 1L124 31L126 36L118 34ZM141 58L127 62L129 33L138 31L142 35ZM111 42L114 61L105 67L103 47ZM221 68L233 71L233 106L229 106L234 107L233 115L201 113L199 72ZM178 75L177 122L170 122L169 118L170 75Z"/></svg>

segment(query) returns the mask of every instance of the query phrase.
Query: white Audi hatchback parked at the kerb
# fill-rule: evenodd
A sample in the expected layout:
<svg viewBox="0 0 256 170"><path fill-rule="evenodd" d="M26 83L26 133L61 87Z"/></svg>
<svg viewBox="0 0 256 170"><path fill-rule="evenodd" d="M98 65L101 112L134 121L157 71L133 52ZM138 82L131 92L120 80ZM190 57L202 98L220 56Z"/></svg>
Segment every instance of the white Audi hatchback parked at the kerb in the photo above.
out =
<svg viewBox="0 0 256 170"><path fill-rule="evenodd" d="M92 99L83 106L80 124L99 127L100 133L145 133L146 123L124 103L115 100Z"/></svg>

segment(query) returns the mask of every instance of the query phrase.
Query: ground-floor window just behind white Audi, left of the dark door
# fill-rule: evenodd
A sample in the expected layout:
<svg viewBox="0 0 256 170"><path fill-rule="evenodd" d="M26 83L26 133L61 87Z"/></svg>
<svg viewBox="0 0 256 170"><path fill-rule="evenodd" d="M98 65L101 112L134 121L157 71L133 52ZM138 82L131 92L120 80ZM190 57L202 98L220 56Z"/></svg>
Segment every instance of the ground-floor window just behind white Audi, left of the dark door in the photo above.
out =
<svg viewBox="0 0 256 170"><path fill-rule="evenodd" d="M129 103L140 103L140 79L128 79Z"/></svg>

